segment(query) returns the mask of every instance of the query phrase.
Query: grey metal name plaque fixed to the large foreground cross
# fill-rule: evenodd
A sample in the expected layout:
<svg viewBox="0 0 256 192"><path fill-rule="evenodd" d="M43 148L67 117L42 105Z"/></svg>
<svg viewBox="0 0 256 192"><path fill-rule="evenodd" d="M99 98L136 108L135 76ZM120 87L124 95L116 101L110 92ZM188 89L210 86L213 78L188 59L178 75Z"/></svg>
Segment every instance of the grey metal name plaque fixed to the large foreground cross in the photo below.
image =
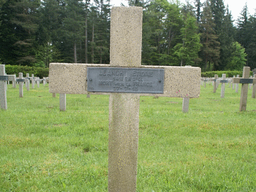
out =
<svg viewBox="0 0 256 192"><path fill-rule="evenodd" d="M88 67L88 92L163 93L163 68Z"/></svg>

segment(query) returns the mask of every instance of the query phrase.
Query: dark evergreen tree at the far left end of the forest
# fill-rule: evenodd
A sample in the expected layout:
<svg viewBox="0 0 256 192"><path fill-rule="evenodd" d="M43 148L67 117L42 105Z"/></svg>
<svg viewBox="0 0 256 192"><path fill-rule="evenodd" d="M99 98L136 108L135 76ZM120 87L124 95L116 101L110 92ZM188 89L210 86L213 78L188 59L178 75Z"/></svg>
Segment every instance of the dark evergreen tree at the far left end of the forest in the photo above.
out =
<svg viewBox="0 0 256 192"><path fill-rule="evenodd" d="M19 65L35 63L36 31L40 1L8 0L2 7L1 51L4 63L13 61ZM10 55L12 52L12 55Z"/></svg>

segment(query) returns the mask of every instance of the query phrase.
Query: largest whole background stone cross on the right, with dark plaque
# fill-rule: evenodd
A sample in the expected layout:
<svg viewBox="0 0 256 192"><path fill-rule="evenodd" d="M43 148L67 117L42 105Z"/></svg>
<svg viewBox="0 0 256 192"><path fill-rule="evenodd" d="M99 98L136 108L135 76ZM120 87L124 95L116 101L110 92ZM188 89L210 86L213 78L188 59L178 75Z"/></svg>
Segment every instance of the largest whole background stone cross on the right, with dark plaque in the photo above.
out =
<svg viewBox="0 0 256 192"><path fill-rule="evenodd" d="M256 83L255 78L249 79L249 77L250 77L250 67L244 67L243 68L243 77L242 78L239 78L239 77L233 78L233 83L242 83L239 111L246 111L248 84Z"/></svg>

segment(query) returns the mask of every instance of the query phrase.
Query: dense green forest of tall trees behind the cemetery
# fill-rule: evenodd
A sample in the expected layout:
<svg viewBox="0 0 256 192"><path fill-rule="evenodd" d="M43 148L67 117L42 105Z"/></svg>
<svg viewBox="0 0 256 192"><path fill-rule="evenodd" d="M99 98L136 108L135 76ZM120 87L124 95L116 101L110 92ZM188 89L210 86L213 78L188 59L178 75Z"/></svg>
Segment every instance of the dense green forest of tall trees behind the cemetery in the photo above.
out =
<svg viewBox="0 0 256 192"><path fill-rule="evenodd" d="M256 12L249 15L247 4L237 23L223 0L129 0L129 6L143 7L142 65L256 68ZM107 64L110 10L109 0L0 0L0 63Z"/></svg>

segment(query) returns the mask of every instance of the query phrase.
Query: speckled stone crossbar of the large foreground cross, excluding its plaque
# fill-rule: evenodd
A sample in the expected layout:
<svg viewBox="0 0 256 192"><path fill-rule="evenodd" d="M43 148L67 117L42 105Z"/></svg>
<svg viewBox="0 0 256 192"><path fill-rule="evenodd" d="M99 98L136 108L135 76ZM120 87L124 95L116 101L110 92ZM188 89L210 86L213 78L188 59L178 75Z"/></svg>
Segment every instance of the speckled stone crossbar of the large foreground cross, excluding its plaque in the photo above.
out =
<svg viewBox="0 0 256 192"><path fill-rule="evenodd" d="M87 91L86 80L88 67L109 68L112 66L104 64L50 63L49 79L51 79L51 81L49 83L49 92L66 94L106 94L107 92ZM140 95L190 98L196 98L200 95L201 69L199 67L140 66L137 68L164 69L163 93L140 93ZM143 81L143 79L138 81ZM131 81L131 83L134 82ZM135 83L138 82L136 81Z"/></svg>

